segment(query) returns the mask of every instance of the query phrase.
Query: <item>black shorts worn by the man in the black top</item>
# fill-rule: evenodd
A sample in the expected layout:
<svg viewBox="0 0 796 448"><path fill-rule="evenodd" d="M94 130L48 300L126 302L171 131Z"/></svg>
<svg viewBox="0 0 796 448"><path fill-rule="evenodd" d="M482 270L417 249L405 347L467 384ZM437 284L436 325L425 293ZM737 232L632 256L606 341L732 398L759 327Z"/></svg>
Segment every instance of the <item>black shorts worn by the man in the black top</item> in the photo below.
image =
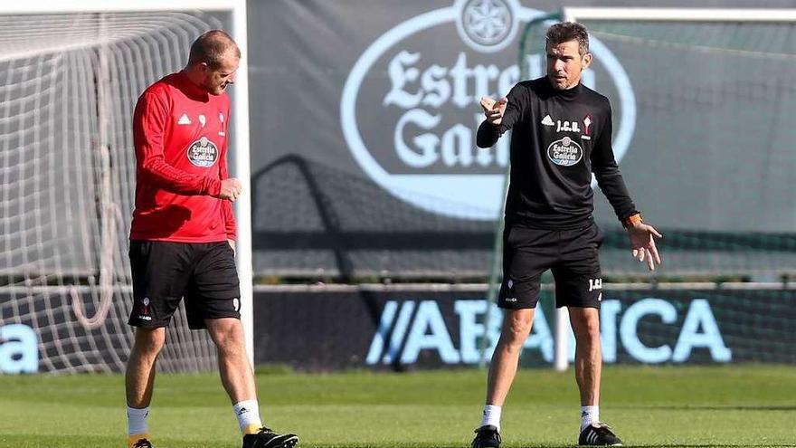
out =
<svg viewBox="0 0 796 448"><path fill-rule="evenodd" d="M597 252L602 239L594 223L572 230L507 224L498 306L511 310L536 308L542 273L550 269L556 307L600 308L602 274Z"/></svg>

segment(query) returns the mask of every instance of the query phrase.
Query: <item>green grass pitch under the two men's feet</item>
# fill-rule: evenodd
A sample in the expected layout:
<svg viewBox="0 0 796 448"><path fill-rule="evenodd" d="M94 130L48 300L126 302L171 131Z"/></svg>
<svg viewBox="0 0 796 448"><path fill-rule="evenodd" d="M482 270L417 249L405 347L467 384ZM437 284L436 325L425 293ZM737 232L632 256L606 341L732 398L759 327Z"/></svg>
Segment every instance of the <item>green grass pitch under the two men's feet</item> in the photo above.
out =
<svg viewBox="0 0 796 448"><path fill-rule="evenodd" d="M0 447L124 447L123 377L0 376ZM486 373L260 374L261 414L304 447L469 446ZM156 448L233 448L240 435L217 376L159 375ZM796 446L796 368L606 367L602 419L633 446ZM503 411L506 447L573 446L570 370L520 370Z"/></svg>

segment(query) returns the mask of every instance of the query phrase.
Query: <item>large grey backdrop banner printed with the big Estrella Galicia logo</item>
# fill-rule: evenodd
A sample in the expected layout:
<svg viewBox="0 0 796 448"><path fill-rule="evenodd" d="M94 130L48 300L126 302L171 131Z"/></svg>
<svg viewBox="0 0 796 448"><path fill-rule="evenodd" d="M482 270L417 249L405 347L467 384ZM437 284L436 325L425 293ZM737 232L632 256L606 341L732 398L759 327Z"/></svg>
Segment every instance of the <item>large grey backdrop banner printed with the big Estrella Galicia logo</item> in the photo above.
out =
<svg viewBox="0 0 796 448"><path fill-rule="evenodd" d="M256 272L483 278L509 136L476 148L479 99L545 75L553 22L541 19L560 6L252 3ZM583 23L594 55L583 83L611 100L630 194L667 235L661 274L796 265L796 157L781 143L794 137L782 124L796 111L792 24ZM611 206L594 197L603 272L642 272Z"/></svg>

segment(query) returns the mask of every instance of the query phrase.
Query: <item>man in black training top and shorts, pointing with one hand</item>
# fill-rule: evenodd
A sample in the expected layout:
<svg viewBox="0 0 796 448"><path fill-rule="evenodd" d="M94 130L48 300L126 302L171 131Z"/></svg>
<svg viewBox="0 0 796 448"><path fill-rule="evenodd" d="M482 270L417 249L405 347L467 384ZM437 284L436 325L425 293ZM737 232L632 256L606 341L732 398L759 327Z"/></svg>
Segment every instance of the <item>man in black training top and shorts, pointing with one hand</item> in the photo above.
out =
<svg viewBox="0 0 796 448"><path fill-rule="evenodd" d="M581 84L581 74L592 62L586 29L554 24L547 32L546 53L547 76L517 83L507 98L481 99L487 119L479 127L479 148L489 148L508 129L513 131L498 298L506 311L473 448L500 444L501 407L531 330L539 279L548 269L555 279L555 306L568 308L577 341L578 443L621 444L599 415L602 275L597 251L602 233L592 218L592 172L628 231L633 257L646 261L650 270L660 263L653 236L661 235L641 220L613 157L611 105Z"/></svg>

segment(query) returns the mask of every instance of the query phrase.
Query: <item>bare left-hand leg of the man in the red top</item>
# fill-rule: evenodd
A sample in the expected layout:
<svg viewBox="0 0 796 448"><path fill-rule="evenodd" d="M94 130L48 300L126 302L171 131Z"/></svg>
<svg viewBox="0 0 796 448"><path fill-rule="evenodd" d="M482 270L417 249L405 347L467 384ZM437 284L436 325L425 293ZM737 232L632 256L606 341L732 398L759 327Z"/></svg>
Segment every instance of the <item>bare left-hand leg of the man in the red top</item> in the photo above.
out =
<svg viewBox="0 0 796 448"><path fill-rule="evenodd" d="M166 328L136 329L125 372L128 406L141 409L152 401L155 384L155 364L166 340Z"/></svg>

